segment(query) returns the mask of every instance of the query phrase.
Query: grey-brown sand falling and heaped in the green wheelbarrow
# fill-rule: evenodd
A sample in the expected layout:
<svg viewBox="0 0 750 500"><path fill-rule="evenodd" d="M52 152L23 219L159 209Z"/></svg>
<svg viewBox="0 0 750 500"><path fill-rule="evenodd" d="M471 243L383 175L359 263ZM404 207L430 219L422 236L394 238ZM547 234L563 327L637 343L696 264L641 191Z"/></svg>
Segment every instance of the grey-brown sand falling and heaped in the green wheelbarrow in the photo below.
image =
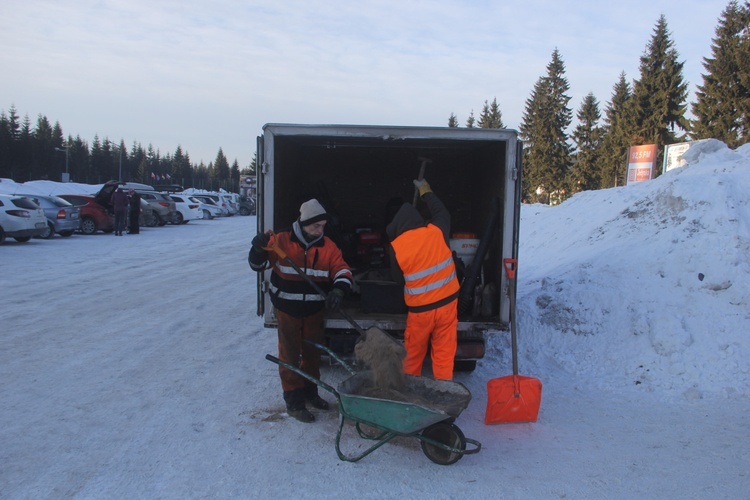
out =
<svg viewBox="0 0 750 500"><path fill-rule="evenodd" d="M361 384L352 384L356 395L416 404L451 415L466 407L464 402L470 396L465 394L468 391L463 386L404 375L406 349L379 328L372 327L365 332L354 354L368 366L372 375L363 377Z"/></svg>

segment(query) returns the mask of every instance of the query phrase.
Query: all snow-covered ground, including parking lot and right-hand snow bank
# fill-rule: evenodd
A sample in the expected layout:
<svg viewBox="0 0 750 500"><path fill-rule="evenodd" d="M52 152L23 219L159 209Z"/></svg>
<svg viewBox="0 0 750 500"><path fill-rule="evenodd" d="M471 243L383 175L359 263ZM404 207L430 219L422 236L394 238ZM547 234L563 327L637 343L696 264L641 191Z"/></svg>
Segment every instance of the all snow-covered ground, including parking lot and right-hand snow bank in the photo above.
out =
<svg viewBox="0 0 750 500"><path fill-rule="evenodd" d="M519 365L544 383L539 420L484 424L487 381L512 372L509 336L490 334L456 376L473 394L456 423L483 447L450 466L415 438L343 462L335 410L286 415L246 262L254 217L10 239L0 497L749 498L750 146L686 156L523 207ZM344 451L366 446L345 427Z"/></svg>

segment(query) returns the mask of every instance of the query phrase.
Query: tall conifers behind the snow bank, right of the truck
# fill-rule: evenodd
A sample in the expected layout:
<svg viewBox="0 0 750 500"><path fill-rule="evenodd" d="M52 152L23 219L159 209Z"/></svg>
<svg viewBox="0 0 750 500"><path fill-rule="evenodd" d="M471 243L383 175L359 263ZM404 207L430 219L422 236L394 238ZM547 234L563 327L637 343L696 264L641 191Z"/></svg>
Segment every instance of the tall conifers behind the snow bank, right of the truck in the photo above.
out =
<svg viewBox="0 0 750 500"><path fill-rule="evenodd" d="M573 113L562 55L555 49L547 72L526 100L519 127L524 142L523 199L559 203L573 194L621 186L627 175L628 148L656 144L655 174L661 173L664 146L715 138L732 149L750 141L750 2L731 1L722 11L712 39L711 56L696 101L688 110L684 62L671 40L665 16L656 22L632 83L624 72L604 108L589 93ZM458 127L451 114L448 126ZM497 99L473 111L466 127L505 128Z"/></svg>

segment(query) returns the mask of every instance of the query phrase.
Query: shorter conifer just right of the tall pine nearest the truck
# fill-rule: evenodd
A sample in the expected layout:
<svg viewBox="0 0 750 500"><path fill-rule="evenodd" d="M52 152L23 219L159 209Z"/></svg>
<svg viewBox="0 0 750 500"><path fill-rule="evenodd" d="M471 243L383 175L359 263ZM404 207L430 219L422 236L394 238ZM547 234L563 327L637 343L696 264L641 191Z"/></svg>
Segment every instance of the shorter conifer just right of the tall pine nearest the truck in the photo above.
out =
<svg viewBox="0 0 750 500"><path fill-rule="evenodd" d="M584 98L576 117L578 125L573 131L573 141L577 151L574 154L573 166L569 171L568 191L570 194L597 189L600 184L602 128L599 126L599 119L601 113L599 102L593 93L589 93Z"/></svg>

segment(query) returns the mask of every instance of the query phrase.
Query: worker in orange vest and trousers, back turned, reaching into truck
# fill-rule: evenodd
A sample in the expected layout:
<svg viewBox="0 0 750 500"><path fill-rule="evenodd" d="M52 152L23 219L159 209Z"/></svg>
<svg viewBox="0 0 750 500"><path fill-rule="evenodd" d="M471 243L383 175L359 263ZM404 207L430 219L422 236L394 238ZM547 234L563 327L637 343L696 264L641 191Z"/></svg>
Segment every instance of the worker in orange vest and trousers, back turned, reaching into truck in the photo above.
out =
<svg viewBox="0 0 750 500"><path fill-rule="evenodd" d="M432 374L453 379L458 327L459 283L448 244L450 214L426 180L414 185L432 215L428 223L411 204L404 203L386 227L391 260L403 276L408 307L404 332L404 373L422 375L431 349Z"/></svg>

